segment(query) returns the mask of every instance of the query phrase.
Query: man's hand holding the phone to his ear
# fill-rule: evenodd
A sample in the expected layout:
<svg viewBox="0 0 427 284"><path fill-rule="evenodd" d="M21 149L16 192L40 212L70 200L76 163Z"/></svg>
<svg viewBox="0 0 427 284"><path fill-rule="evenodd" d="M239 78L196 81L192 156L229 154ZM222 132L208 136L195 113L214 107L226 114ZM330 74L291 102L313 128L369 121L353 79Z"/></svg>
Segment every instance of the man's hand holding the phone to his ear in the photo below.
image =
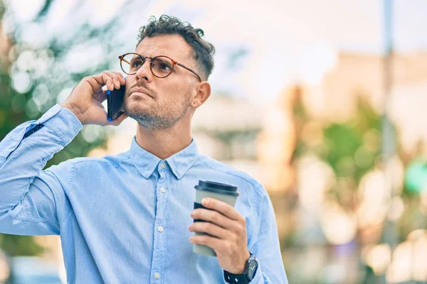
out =
<svg viewBox="0 0 427 284"><path fill-rule="evenodd" d="M77 116L80 122L85 124L114 125L117 126L127 118L122 114L114 121L107 120L107 112L102 106L102 102L107 99L106 91L102 89L120 89L121 84L125 84L125 78L120 72L104 71L100 74L83 78L73 89L70 97L61 105Z"/></svg>

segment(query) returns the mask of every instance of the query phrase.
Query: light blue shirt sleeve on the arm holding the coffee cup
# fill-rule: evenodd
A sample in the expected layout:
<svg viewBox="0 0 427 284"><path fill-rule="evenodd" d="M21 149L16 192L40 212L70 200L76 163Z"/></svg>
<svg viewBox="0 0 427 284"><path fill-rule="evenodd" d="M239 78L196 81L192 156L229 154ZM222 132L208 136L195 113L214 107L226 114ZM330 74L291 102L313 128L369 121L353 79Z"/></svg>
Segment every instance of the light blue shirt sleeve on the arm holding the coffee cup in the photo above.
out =
<svg viewBox="0 0 427 284"><path fill-rule="evenodd" d="M278 237L273 204L263 187L260 192L260 218L258 240L251 253L258 258L258 269L251 284L288 284ZM258 213L259 214L259 213Z"/></svg>

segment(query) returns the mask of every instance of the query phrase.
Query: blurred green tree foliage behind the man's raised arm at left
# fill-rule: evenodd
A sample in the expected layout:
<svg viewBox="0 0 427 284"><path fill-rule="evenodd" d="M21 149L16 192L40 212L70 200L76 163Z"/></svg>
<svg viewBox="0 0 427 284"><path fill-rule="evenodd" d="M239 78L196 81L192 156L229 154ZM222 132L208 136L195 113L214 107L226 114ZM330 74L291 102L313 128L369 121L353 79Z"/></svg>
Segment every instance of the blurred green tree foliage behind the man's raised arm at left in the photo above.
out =
<svg viewBox="0 0 427 284"><path fill-rule="evenodd" d="M23 20L9 7L11 1L0 0L0 141L19 124L38 119L54 104L62 103L83 77L110 69L117 58L115 52L121 45L111 38L120 33L118 16L102 25L93 24L87 16L93 13L84 5L87 2L74 1L70 17L60 19L68 28L58 30L51 26L51 19L63 4L55 6L56 2L42 1L33 17ZM108 131L85 126L46 168L105 146ZM11 256L42 251L28 236L0 234L0 247Z"/></svg>

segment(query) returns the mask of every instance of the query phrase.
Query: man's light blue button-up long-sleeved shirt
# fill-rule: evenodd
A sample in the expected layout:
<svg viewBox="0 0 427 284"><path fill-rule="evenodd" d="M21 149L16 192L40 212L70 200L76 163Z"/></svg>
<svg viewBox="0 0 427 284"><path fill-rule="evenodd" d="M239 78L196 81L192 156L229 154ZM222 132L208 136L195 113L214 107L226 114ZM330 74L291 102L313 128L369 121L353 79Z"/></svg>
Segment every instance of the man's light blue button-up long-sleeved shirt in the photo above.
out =
<svg viewBox="0 0 427 284"><path fill-rule="evenodd" d="M58 104L0 142L0 233L60 235L68 283L226 283L218 261L192 251L199 180L236 185L251 283L288 283L273 207L256 180L199 154L193 141L161 160L138 146L42 170L82 129Z"/></svg>

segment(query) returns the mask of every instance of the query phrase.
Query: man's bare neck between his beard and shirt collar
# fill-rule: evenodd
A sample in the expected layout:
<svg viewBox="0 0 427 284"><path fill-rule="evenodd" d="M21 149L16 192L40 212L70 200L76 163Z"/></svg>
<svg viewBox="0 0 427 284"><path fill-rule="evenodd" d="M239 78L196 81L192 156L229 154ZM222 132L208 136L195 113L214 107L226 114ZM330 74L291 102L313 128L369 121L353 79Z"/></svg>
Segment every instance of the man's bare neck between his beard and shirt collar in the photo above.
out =
<svg viewBox="0 0 427 284"><path fill-rule="evenodd" d="M190 145L191 131L189 126L180 124L171 129L155 131L138 125L136 140L145 151L164 160Z"/></svg>

